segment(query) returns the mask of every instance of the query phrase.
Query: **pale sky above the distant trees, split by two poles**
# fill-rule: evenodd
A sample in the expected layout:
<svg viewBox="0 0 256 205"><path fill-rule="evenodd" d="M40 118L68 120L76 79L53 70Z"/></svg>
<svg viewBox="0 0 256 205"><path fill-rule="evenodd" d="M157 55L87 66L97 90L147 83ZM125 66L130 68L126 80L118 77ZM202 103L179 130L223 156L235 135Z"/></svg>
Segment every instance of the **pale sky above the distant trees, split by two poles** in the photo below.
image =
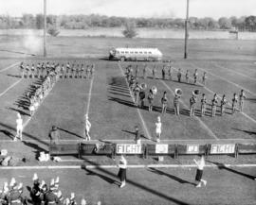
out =
<svg viewBox="0 0 256 205"><path fill-rule="evenodd" d="M46 0L50 14L185 18L187 0ZM43 13L44 0L0 0L0 14ZM256 0L190 0L190 16L256 15Z"/></svg>

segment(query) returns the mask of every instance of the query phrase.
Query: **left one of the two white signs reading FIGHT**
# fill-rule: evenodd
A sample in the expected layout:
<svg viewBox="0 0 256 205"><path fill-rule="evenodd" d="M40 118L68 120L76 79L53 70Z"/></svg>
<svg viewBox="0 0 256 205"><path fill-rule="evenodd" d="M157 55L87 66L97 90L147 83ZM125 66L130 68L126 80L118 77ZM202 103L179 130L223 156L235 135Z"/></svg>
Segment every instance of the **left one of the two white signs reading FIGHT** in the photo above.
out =
<svg viewBox="0 0 256 205"><path fill-rule="evenodd" d="M117 144L117 154L142 154L142 145L137 144Z"/></svg>

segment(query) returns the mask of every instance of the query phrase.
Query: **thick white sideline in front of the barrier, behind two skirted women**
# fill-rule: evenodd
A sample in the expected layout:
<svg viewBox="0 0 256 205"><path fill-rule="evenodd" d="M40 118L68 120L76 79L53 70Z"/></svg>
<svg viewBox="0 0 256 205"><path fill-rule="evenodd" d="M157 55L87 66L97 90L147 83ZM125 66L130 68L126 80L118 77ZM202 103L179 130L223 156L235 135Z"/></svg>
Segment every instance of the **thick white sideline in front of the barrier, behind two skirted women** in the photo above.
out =
<svg viewBox="0 0 256 205"><path fill-rule="evenodd" d="M224 167L256 167L255 163L221 163ZM119 167L117 165L48 165L48 166L1 166L0 170L30 170L30 169L95 169L95 168L105 168L111 169ZM129 164L127 168L196 168L196 164ZM217 168L217 164L207 163L205 167Z"/></svg>

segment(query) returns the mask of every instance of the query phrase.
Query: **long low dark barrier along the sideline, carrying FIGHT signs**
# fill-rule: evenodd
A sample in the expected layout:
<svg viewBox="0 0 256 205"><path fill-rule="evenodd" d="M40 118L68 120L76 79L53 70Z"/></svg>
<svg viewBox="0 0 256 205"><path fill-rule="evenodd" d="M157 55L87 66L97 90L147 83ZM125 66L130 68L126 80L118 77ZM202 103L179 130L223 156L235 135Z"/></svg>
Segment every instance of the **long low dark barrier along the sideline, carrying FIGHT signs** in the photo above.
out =
<svg viewBox="0 0 256 205"><path fill-rule="evenodd" d="M178 144L54 144L49 145L50 156L74 155L78 158L88 155L106 155L111 158L120 154L148 156L180 155L231 155L237 158L242 154L256 154L256 144L207 144L207 145L178 145Z"/></svg>

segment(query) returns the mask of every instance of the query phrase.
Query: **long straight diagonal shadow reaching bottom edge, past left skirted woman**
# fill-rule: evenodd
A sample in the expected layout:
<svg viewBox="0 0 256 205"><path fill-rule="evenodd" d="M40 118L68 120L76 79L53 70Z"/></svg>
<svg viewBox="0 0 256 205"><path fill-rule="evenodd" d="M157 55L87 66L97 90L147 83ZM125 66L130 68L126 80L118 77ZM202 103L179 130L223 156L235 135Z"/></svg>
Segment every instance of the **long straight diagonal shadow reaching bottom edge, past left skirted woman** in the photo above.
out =
<svg viewBox="0 0 256 205"><path fill-rule="evenodd" d="M100 165L100 164L98 164L98 163L96 163L96 162L88 162L88 163L90 163L91 165L96 165L96 166L97 166L97 165ZM86 166L84 166L84 165L82 165L82 169L84 169L84 170L86 170L86 171L88 170L88 169L86 169ZM105 173L105 174L107 174L108 176L111 176L111 177L117 179L117 175L113 174L112 172L110 172L110 171L108 171L108 170L106 170L106 169L103 169L103 168L101 168L101 167L97 167L96 169L99 170L99 171L101 171L101 172L103 172L103 173ZM129 172L129 170L128 170L128 172ZM109 177L105 177L105 176L104 176L104 178L109 178ZM109 180L109 179L107 179L107 180ZM111 179L111 180L114 180L114 179ZM109 181L110 181L110 180L109 180ZM115 180L115 181L116 181L116 180ZM171 202L173 202L173 203L175 203L175 204L178 204L178 205L190 205L190 204L187 203L187 202L184 202L184 201L182 201L182 200L176 199L176 198L171 197L171 196L167 196L167 195L165 195L165 194L159 192L158 190L155 190L155 189L153 189L153 188L151 188L151 187L147 187L147 186L145 186L144 184L141 184L141 183L139 183L139 182L137 182L137 181L135 181L135 180L126 179L126 182L127 182L127 184L131 184L131 185L133 185L133 186L136 186L137 188L142 189L142 190L144 190L145 192L148 192L148 193L150 193L150 194L152 194L152 195L154 195L154 196L158 196L158 197L164 198L164 199L166 199L166 200L168 200L168 201L171 201Z"/></svg>

